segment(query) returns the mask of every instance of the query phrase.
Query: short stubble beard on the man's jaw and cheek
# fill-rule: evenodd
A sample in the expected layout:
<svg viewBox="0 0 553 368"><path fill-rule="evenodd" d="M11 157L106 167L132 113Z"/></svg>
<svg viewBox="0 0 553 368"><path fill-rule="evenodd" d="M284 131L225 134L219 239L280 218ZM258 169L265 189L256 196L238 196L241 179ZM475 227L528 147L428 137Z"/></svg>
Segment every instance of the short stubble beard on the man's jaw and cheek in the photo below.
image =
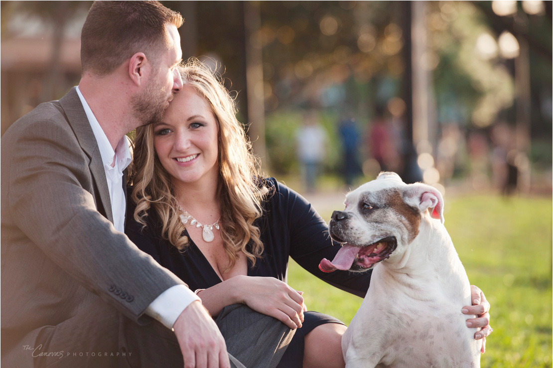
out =
<svg viewBox="0 0 553 368"><path fill-rule="evenodd" d="M153 78L142 92L132 97L133 115L141 126L159 122L163 119L167 102L170 100L173 100L173 94L168 97L158 79Z"/></svg>

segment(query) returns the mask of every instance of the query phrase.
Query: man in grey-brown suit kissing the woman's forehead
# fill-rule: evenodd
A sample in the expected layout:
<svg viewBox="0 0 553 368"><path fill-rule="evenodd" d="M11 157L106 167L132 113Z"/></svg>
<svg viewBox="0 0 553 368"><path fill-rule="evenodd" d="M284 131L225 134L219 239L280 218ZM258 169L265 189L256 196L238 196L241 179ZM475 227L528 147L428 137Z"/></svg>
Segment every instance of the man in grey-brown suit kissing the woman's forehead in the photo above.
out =
<svg viewBox="0 0 553 368"><path fill-rule="evenodd" d="M243 367L200 299L122 234L124 134L160 120L181 88L181 24L158 2L93 3L79 86L2 137L2 364ZM290 330L242 309L219 317L227 344L274 366Z"/></svg>

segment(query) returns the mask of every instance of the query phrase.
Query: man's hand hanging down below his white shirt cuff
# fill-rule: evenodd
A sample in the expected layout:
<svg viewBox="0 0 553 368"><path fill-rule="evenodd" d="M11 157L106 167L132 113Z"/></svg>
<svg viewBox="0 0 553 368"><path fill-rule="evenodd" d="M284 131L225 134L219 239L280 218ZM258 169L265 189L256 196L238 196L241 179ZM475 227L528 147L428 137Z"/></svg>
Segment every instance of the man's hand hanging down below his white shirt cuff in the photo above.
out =
<svg viewBox="0 0 553 368"><path fill-rule="evenodd" d="M230 368L221 331L198 300L176 319L173 330L184 357L184 368Z"/></svg>

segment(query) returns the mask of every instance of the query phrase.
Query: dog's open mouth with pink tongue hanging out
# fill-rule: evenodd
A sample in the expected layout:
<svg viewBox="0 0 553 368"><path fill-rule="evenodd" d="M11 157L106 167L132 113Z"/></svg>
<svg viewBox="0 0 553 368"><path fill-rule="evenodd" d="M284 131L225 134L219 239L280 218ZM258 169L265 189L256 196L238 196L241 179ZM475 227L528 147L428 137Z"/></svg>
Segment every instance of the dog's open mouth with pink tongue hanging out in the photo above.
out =
<svg viewBox="0 0 553 368"><path fill-rule="evenodd" d="M385 237L366 246L345 243L332 262L324 258L319 263L319 269L322 272L333 272L337 269L365 271L373 268L378 262L388 259L397 246L398 242L394 236Z"/></svg>

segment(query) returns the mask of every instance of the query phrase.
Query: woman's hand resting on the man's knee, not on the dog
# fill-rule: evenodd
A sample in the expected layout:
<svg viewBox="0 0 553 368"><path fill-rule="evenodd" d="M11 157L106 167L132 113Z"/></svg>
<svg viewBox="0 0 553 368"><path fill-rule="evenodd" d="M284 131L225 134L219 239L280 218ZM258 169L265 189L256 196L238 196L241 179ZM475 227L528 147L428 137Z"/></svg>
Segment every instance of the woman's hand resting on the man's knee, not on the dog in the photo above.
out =
<svg viewBox="0 0 553 368"><path fill-rule="evenodd" d="M241 303L256 312L274 317L291 329L304 322L304 298L285 282L274 277L236 276Z"/></svg>

